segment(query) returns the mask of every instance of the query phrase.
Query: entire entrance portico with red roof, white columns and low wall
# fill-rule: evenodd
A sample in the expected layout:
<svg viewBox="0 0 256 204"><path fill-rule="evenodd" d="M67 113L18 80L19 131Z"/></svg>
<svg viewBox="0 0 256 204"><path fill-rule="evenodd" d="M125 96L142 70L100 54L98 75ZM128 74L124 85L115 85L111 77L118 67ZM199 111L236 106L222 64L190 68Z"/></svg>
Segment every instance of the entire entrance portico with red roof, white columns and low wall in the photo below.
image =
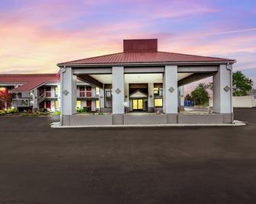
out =
<svg viewBox="0 0 256 204"><path fill-rule="evenodd" d="M233 62L158 52L157 40L127 40L124 53L60 63L61 125L232 123ZM210 75L215 114L179 114L183 84ZM99 87L99 109L105 114L76 114L76 78Z"/></svg>

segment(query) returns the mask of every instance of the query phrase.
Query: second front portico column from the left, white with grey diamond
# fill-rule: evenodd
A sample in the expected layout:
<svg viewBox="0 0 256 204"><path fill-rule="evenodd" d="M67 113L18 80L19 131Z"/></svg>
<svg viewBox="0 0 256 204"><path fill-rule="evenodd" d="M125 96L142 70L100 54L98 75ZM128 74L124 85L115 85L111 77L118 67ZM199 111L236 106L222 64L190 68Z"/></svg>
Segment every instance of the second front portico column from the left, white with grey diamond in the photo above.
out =
<svg viewBox="0 0 256 204"><path fill-rule="evenodd" d="M124 67L112 67L112 123L123 124L125 113Z"/></svg>

